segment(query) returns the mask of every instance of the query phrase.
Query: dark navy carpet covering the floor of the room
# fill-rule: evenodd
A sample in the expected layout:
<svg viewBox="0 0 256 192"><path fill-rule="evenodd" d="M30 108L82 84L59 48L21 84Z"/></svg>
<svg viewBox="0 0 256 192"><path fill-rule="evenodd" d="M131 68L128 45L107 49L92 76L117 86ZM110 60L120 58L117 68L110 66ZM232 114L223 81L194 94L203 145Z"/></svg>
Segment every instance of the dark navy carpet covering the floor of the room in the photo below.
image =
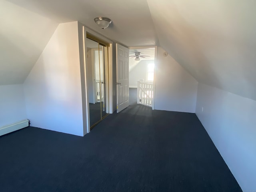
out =
<svg viewBox="0 0 256 192"><path fill-rule="evenodd" d="M139 104L84 137L24 128L0 154L1 192L242 191L195 114Z"/></svg>

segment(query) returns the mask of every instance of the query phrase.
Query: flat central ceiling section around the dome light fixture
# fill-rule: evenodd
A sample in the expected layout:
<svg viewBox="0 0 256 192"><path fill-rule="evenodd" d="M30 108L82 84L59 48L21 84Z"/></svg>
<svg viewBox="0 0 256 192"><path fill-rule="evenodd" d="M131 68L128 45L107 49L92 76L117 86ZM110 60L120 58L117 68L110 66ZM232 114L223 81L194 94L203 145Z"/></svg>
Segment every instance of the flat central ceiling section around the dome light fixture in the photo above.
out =
<svg viewBox="0 0 256 192"><path fill-rule="evenodd" d="M158 42L146 0L8 0L58 23L82 22L92 30L126 46L152 46ZM112 19L102 30L94 18Z"/></svg>

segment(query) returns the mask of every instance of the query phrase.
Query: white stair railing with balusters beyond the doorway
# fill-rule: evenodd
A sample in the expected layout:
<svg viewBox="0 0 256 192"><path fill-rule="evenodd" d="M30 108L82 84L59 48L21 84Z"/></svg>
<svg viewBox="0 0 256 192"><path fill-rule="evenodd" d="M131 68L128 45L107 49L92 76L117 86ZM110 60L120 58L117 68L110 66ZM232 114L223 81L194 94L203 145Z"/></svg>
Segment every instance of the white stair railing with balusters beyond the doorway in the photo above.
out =
<svg viewBox="0 0 256 192"><path fill-rule="evenodd" d="M138 81L137 103L151 106L153 98L153 83Z"/></svg>

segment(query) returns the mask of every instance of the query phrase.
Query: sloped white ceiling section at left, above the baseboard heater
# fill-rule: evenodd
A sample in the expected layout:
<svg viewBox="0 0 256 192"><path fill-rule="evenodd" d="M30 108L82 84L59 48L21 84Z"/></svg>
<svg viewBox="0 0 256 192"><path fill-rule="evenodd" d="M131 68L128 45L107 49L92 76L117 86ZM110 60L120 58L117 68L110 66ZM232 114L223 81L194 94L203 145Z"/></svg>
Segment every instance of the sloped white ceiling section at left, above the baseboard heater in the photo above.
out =
<svg viewBox="0 0 256 192"><path fill-rule="evenodd" d="M58 23L0 1L0 85L21 84Z"/></svg>

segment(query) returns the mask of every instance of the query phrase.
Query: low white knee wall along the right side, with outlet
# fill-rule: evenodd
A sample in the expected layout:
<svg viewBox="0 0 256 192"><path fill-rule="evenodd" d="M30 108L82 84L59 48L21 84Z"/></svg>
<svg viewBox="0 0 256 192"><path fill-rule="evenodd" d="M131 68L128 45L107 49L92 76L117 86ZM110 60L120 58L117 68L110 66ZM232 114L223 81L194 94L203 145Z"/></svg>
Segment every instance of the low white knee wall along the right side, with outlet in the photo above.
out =
<svg viewBox="0 0 256 192"><path fill-rule="evenodd" d="M242 190L256 191L256 101L200 83L196 115Z"/></svg>

